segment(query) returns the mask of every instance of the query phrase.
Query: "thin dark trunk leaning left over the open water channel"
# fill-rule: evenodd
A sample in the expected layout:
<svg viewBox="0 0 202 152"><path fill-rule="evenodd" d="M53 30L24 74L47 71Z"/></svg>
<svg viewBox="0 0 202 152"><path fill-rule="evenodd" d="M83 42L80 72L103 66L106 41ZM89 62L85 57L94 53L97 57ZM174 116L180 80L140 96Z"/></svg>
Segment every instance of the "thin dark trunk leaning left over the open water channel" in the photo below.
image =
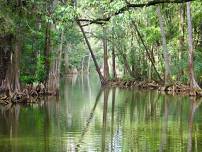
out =
<svg viewBox="0 0 202 152"><path fill-rule="evenodd" d="M95 64L96 71L97 71L97 73L98 73L98 75L99 75L99 78L100 78L100 82L101 82L102 85L104 85L104 84L107 83L107 81L105 80L105 78L103 77L103 75L102 75L102 73L101 73L101 71L100 71L100 68L99 68L99 66L98 66L96 57L95 57L95 55L94 55L94 53L93 53L93 50L92 50L92 48L91 48L90 42L88 41L88 38L87 38L87 36L86 36L86 34L85 34L85 31L84 31L83 27L81 26L81 23L80 23L79 21L77 21L77 24L78 24L78 26L79 26L79 28L80 28L82 34L83 34L83 37L84 37L84 39L85 39L85 41L86 41L86 44L87 44L87 46L88 46L88 49L89 49L89 51L90 51L91 57L92 57L93 62L94 62L94 64Z"/></svg>

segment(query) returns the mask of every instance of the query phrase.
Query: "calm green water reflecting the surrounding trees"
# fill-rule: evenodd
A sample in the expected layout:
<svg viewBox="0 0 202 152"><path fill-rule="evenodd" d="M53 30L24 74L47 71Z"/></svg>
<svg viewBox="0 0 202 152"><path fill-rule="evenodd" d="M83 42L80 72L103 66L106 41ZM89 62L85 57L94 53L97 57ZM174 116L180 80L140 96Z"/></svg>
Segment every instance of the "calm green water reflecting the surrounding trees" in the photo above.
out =
<svg viewBox="0 0 202 152"><path fill-rule="evenodd" d="M0 152L202 151L202 100L65 78L61 96L0 105Z"/></svg>

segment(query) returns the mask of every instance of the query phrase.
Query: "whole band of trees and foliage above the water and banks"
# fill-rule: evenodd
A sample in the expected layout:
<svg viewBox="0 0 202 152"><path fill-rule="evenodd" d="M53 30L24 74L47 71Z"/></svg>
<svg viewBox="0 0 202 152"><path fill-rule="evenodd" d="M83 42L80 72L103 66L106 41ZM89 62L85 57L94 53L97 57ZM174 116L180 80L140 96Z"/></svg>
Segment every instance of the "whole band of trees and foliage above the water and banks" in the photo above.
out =
<svg viewBox="0 0 202 152"><path fill-rule="evenodd" d="M122 77L202 83L200 0L0 0L0 88L96 69ZM92 58L93 62L90 62Z"/></svg>

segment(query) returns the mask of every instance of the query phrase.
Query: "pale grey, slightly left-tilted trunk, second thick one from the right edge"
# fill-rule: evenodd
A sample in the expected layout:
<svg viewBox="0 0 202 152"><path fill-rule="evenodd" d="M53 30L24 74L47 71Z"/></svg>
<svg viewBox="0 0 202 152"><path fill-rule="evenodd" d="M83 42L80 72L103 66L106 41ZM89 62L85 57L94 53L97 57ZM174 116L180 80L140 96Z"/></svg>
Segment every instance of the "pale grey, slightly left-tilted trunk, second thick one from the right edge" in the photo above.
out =
<svg viewBox="0 0 202 152"><path fill-rule="evenodd" d="M170 81L171 71L170 71L170 63L169 63L169 52L166 44L166 35L165 35L160 6L157 6L157 15L159 18L162 45L163 45L163 57L164 57L164 64L165 64L165 85L167 85Z"/></svg>

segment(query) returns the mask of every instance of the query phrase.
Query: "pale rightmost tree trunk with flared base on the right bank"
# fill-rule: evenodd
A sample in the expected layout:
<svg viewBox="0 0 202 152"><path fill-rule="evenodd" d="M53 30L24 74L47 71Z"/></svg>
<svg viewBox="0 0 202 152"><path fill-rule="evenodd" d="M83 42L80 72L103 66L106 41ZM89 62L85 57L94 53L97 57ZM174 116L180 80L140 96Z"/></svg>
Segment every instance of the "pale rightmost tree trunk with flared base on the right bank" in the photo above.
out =
<svg viewBox="0 0 202 152"><path fill-rule="evenodd" d="M191 89L200 89L194 77L193 67L193 38L192 38L192 19L191 19L191 3L187 2L187 23L188 23L188 44L189 44L189 81Z"/></svg>

